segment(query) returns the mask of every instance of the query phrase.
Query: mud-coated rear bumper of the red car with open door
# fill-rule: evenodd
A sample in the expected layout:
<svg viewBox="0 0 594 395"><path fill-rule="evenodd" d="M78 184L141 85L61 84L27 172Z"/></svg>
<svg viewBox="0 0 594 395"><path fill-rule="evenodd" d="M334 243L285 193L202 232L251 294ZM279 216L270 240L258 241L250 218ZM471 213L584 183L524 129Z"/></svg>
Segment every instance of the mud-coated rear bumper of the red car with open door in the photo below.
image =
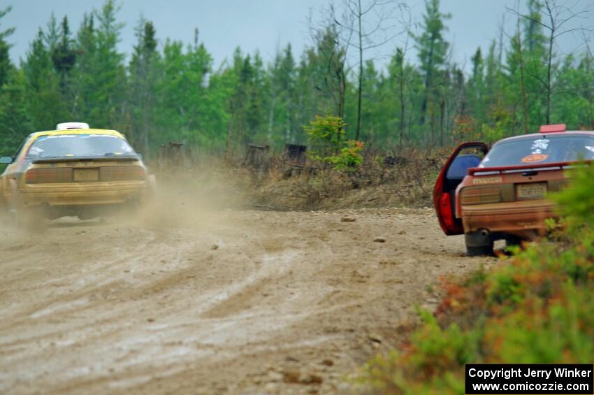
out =
<svg viewBox="0 0 594 395"><path fill-rule="evenodd" d="M556 218L554 205L544 199L463 206L465 233L486 229L492 234L533 238L546 231L546 218ZM531 236L533 235L533 236Z"/></svg>

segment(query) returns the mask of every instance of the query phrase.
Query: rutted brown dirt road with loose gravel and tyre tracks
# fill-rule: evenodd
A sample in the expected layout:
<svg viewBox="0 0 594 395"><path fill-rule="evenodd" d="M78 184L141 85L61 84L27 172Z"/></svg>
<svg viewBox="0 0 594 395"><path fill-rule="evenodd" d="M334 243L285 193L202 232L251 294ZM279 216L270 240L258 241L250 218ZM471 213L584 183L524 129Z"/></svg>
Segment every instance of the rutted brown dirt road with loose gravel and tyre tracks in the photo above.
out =
<svg viewBox="0 0 594 395"><path fill-rule="evenodd" d="M430 210L0 229L0 392L344 393L463 252Z"/></svg>

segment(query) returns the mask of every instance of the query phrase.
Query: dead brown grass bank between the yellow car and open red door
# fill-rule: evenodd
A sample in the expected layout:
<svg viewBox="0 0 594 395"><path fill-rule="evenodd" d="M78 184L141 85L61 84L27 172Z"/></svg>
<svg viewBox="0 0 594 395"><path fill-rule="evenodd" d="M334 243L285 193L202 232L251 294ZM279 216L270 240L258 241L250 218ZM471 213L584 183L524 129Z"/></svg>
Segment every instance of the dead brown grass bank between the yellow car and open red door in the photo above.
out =
<svg viewBox="0 0 594 395"><path fill-rule="evenodd" d="M182 185L184 194L219 207L268 210L431 206L433 185L448 150L410 150L398 164L367 155L354 173L341 173L307 161L291 166L275 156L263 168L241 159L206 157L196 164L157 173L161 185Z"/></svg>

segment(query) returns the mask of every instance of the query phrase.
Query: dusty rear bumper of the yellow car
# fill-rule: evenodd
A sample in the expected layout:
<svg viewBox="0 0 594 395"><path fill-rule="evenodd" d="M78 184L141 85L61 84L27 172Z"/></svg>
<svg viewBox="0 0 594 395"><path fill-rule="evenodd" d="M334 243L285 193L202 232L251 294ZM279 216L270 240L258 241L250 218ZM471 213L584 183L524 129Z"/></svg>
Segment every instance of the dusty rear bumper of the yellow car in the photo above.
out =
<svg viewBox="0 0 594 395"><path fill-rule="evenodd" d="M143 201L145 181L69 182L64 184L28 184L19 189L25 206L97 206Z"/></svg>

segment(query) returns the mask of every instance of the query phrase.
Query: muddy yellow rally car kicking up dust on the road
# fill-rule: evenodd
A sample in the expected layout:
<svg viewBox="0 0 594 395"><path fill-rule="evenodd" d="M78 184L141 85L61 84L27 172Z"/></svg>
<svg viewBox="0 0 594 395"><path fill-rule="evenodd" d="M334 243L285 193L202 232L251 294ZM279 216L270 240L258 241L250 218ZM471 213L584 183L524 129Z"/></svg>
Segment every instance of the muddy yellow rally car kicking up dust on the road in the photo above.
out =
<svg viewBox="0 0 594 395"><path fill-rule="evenodd" d="M113 214L112 209L140 206L155 188L154 175L122 134L78 122L29 135L0 163L8 164L0 180L0 210L8 210L17 224Z"/></svg>

